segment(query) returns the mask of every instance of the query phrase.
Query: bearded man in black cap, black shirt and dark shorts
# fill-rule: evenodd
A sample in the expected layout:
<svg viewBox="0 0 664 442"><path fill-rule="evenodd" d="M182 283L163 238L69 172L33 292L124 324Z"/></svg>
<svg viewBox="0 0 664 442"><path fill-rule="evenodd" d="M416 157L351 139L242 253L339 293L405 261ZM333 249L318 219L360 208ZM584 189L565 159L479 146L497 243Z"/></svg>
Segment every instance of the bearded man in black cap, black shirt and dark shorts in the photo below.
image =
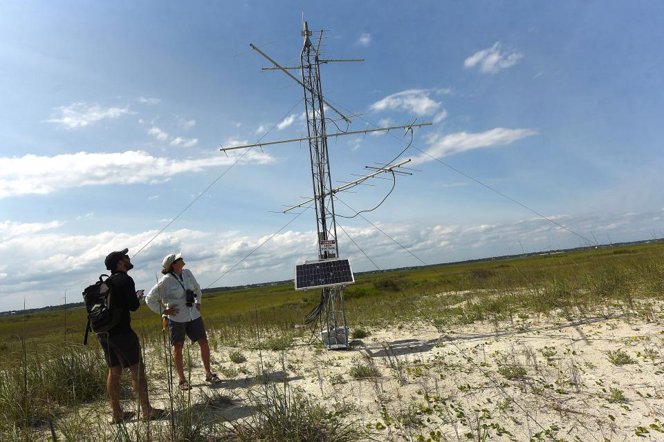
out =
<svg viewBox="0 0 664 442"><path fill-rule="evenodd" d="M111 271L107 283L111 287L113 305L120 311L120 321L107 333L97 334L99 342L104 349L104 356L109 365L109 377L106 388L111 399L113 419L111 423L117 424L131 419L133 412L123 412L120 405L120 377L122 369L129 368L133 391L138 395L141 419L149 421L161 419L166 416L164 410L150 405L147 396L147 379L145 378L145 365L140 354L138 336L131 329L130 311L138 309L142 290L136 291L136 285L127 271L133 269L131 260L127 256L129 249L113 251L104 261L106 268Z"/></svg>

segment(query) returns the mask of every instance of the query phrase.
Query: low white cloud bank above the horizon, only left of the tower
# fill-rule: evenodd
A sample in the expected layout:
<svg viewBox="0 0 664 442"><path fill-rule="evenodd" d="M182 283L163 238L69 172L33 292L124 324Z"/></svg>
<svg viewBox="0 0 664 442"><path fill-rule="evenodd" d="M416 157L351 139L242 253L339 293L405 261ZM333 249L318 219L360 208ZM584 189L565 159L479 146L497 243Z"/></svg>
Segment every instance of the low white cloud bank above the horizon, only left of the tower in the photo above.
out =
<svg viewBox="0 0 664 442"><path fill-rule="evenodd" d="M10 224L14 225L17 223ZM8 267L0 267L3 285L0 300L4 309L19 307L23 296L28 299L28 308L37 305L53 305L53 293L61 289L80 291L80 287L91 284L104 271L104 257L113 250L129 248L129 255L136 266L131 276L136 287L149 289L154 285L155 273L167 253L182 251L187 265L201 286L207 287L221 276L222 268L229 268L270 237L270 231L253 236L239 236L237 232L208 232L178 229L165 231L149 246L134 256L134 253L153 238L158 229L138 234L103 231L92 235L66 233L40 233L0 238L0 255L12 256ZM307 254L315 253L315 233L286 231L277 234L218 285L241 283L239 278L255 275L261 280L273 280L276 269L282 278L290 277L295 262L302 261ZM304 250L304 251L303 251ZM311 253L308 253L311 251ZM266 271L272 271L266 275ZM262 276L261 276L262 275ZM234 279L233 279L234 278ZM20 299L20 301L19 301Z"/></svg>

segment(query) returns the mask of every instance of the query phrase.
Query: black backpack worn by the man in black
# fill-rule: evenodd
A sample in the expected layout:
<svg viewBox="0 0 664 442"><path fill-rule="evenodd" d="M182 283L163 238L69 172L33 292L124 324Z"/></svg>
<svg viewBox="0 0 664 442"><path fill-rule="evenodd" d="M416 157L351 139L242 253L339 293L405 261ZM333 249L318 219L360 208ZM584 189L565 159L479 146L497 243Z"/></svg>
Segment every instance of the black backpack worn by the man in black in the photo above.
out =
<svg viewBox="0 0 664 442"><path fill-rule="evenodd" d="M104 280L104 276L106 279ZM120 310L113 305L113 276L100 275L99 280L83 291L88 325L85 327L83 344L88 343L90 330L95 333L108 332L120 322Z"/></svg>

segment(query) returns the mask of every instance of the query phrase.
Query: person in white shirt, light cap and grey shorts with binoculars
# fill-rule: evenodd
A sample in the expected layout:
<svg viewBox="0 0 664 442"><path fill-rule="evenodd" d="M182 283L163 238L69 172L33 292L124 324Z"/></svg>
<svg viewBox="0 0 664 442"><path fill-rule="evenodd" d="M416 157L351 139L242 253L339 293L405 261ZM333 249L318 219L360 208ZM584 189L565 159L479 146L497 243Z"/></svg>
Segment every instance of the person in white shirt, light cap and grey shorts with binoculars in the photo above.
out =
<svg viewBox="0 0 664 442"><path fill-rule="evenodd" d="M152 311L166 315L170 342L173 346L173 358L180 378L180 390L189 390L190 385L185 378L185 369L182 361L182 349L185 345L185 334L192 343L198 343L201 348L201 359L205 368L205 381L217 383L219 376L210 370L210 345L208 335L205 334L205 325L201 318L201 286L191 271L183 269L185 261L182 253L167 255L162 261L161 273L164 276L148 292L145 303ZM159 302L166 309L161 310Z"/></svg>

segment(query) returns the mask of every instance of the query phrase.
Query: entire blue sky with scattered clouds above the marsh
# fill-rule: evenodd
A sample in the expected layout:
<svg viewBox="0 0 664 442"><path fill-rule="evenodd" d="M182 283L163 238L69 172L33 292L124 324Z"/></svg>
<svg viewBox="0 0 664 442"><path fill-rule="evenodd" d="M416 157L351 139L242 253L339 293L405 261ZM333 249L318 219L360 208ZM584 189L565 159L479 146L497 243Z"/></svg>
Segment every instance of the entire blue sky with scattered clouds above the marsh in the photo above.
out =
<svg viewBox="0 0 664 442"><path fill-rule="evenodd" d="M302 89L248 49L297 63L303 10L326 56L366 59L322 67L326 97L362 114L349 130L435 122L403 155L421 172L366 214L426 262L581 242L431 156L600 243L664 236L661 3L357 3L3 2L2 309L71 300L109 251L136 253L234 162L219 144L302 135ZM401 135L331 140L333 180L390 160ZM297 143L248 153L134 258L138 286L178 251L214 282L293 218L273 211L311 196L308 167ZM374 206L391 182L374 184L344 202ZM316 257L314 221L214 286L292 278ZM380 268L418 265L339 221ZM375 269L343 233L340 249Z"/></svg>

